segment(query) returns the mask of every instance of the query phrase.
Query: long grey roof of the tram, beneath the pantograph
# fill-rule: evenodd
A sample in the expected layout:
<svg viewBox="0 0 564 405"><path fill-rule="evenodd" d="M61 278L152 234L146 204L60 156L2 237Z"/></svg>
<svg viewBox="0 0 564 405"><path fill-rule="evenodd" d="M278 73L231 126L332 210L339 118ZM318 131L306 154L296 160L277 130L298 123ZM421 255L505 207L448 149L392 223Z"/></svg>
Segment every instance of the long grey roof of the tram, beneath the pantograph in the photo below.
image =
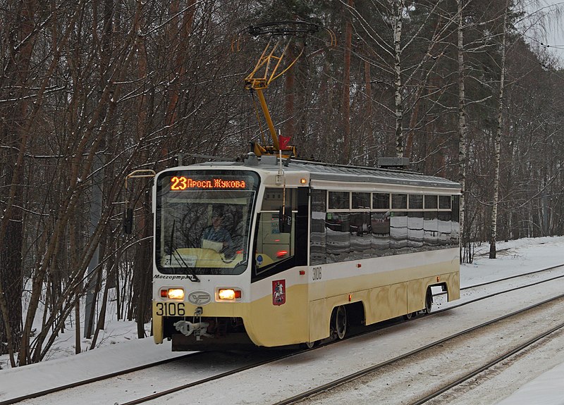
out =
<svg viewBox="0 0 564 405"><path fill-rule="evenodd" d="M223 166L241 165L234 162L206 162L199 163L198 166ZM251 166L259 170L278 170L278 159L262 158L257 166ZM245 165L247 166L247 165ZM410 185L417 187L441 187L457 189L460 191L460 184L447 180L443 177L424 175L422 173L407 170L391 170L383 168L370 168L365 166L345 166L332 163L321 163L314 161L291 160L284 163L285 171L305 171L309 173L312 180L329 180L341 182L375 182L385 184Z"/></svg>

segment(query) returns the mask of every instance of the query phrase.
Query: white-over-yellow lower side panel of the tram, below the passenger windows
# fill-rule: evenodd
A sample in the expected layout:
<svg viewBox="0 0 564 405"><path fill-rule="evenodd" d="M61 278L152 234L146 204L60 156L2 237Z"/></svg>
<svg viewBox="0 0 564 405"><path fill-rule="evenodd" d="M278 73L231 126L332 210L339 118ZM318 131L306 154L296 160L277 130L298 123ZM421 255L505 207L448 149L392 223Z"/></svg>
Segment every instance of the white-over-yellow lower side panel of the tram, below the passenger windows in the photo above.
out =
<svg viewBox="0 0 564 405"><path fill-rule="evenodd" d="M445 285L448 300L458 299L457 254L449 249L313 266L310 280L318 280L309 285L309 341L329 337L336 306L362 302L368 325L424 309L431 285Z"/></svg>

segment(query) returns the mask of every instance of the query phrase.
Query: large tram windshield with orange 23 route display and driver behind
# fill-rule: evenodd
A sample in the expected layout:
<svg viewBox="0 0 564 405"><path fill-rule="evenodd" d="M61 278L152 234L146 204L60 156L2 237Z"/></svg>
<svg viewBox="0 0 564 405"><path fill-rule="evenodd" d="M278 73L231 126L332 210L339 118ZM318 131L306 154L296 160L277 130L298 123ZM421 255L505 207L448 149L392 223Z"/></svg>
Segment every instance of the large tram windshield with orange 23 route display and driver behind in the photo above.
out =
<svg viewBox="0 0 564 405"><path fill-rule="evenodd" d="M257 173L243 170L160 175L155 228L159 272L243 273L258 185Z"/></svg>

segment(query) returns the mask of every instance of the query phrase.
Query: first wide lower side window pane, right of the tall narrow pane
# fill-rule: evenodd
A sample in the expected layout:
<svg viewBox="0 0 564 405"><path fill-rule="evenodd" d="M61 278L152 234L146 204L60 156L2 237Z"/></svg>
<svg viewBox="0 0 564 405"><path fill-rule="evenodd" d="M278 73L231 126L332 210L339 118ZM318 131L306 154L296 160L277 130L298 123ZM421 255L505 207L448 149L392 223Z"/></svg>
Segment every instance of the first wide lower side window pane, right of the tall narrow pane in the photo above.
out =
<svg viewBox="0 0 564 405"><path fill-rule="evenodd" d="M327 263L347 261L350 252L350 213L328 212L325 228Z"/></svg>

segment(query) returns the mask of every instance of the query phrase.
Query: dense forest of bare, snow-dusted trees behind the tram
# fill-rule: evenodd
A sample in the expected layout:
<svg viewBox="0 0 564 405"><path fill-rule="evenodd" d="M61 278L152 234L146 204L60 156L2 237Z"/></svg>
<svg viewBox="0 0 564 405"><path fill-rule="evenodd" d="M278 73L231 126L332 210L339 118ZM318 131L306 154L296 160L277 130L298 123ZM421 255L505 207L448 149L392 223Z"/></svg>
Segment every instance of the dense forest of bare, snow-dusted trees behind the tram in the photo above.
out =
<svg viewBox="0 0 564 405"><path fill-rule="evenodd" d="M77 352L96 347L109 299L145 337L151 180L126 176L251 150L259 23L320 28L265 92L298 158L460 182L464 262L563 235L564 71L540 39L558 18L522 0L0 0L0 354L42 361L69 318Z"/></svg>

